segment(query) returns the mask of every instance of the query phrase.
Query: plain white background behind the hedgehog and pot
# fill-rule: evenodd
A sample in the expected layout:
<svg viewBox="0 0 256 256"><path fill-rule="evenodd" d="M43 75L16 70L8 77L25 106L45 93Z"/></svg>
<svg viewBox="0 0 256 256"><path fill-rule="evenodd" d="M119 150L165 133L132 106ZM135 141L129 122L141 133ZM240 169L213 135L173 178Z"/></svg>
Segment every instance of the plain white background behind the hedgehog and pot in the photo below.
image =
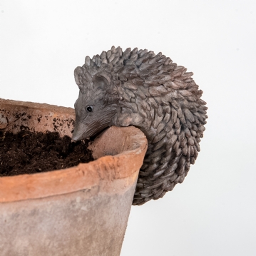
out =
<svg viewBox="0 0 256 256"><path fill-rule="evenodd" d="M73 107L73 69L113 45L161 51L204 91L198 160L132 207L121 256L256 255L255 3L0 0L1 98Z"/></svg>

